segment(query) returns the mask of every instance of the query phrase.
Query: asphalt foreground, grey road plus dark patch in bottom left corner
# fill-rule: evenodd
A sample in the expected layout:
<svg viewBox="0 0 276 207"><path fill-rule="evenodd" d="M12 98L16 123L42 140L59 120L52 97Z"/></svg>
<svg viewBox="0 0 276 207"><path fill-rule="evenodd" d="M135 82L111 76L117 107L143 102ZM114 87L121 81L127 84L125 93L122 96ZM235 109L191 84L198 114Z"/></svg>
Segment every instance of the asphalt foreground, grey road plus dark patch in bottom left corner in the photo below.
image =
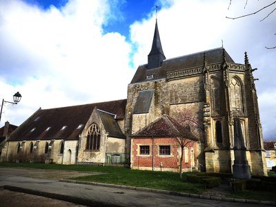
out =
<svg viewBox="0 0 276 207"><path fill-rule="evenodd" d="M0 188L0 206L32 206L33 203L34 206L264 206L59 181L83 175L88 174L63 170L0 168L0 186L9 186L8 190ZM34 197L29 193L43 197ZM52 199L48 201L45 200L49 199L46 197Z"/></svg>

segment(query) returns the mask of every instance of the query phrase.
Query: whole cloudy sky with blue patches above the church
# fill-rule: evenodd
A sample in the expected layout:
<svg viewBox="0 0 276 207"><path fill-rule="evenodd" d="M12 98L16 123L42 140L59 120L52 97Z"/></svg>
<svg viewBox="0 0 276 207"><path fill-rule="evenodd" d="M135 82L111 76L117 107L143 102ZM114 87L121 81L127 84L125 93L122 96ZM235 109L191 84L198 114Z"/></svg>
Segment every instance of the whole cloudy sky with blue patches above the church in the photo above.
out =
<svg viewBox="0 0 276 207"><path fill-rule="evenodd" d="M1 124L20 125L40 107L126 99L147 63L158 27L166 59L222 45L236 63L244 52L254 77L265 140L276 140L276 12L241 19L273 2L250 0L0 0ZM246 5L246 6L245 6ZM275 8L275 6L274 6Z"/></svg>

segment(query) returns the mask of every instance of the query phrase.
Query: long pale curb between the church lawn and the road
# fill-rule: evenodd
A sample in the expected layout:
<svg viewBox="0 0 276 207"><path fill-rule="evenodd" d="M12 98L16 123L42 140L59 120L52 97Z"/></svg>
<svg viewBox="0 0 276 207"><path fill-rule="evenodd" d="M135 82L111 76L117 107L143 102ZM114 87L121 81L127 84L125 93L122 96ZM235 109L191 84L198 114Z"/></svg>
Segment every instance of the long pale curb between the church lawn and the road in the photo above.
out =
<svg viewBox="0 0 276 207"><path fill-rule="evenodd" d="M231 197L199 195L199 194L182 193L182 192L170 191L170 190L141 188L141 187L135 187L135 186L121 186L121 185L115 185L115 184L102 184L102 183L97 183L97 182L77 181L77 180L71 180L71 179L59 179L59 181L75 183L75 184L85 184L85 185L90 185L90 186L105 186L105 187L110 187L110 188L124 188L124 189L128 189L128 190L138 190L138 191L161 193L161 194L167 194L167 195L194 197L194 198L199 198L199 199L210 199L210 200L215 200L215 201L227 201L227 202L243 203L243 204L262 204L262 205L276 206L276 201L261 201L261 200L253 200L253 199L235 199L235 198L231 198Z"/></svg>

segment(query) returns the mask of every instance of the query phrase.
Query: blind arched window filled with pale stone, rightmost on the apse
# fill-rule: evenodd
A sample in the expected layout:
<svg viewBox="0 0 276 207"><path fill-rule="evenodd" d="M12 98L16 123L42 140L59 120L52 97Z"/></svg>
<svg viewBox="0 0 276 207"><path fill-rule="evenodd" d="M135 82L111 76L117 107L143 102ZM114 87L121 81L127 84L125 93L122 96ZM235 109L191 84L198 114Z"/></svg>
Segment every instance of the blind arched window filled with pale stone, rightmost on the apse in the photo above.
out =
<svg viewBox="0 0 276 207"><path fill-rule="evenodd" d="M230 82L231 107L233 110L242 110L242 84L235 78Z"/></svg>

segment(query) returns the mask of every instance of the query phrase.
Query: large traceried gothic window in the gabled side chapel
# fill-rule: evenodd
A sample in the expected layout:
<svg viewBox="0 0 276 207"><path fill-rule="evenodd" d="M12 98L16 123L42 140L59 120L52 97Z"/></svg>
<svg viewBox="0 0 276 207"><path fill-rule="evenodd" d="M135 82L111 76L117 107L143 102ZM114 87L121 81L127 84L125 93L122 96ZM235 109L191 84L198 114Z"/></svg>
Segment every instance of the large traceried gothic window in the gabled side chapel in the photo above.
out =
<svg viewBox="0 0 276 207"><path fill-rule="evenodd" d="M99 126L94 123L88 128L88 133L86 138L86 150L99 150L100 141L101 141L101 134L100 134Z"/></svg>

